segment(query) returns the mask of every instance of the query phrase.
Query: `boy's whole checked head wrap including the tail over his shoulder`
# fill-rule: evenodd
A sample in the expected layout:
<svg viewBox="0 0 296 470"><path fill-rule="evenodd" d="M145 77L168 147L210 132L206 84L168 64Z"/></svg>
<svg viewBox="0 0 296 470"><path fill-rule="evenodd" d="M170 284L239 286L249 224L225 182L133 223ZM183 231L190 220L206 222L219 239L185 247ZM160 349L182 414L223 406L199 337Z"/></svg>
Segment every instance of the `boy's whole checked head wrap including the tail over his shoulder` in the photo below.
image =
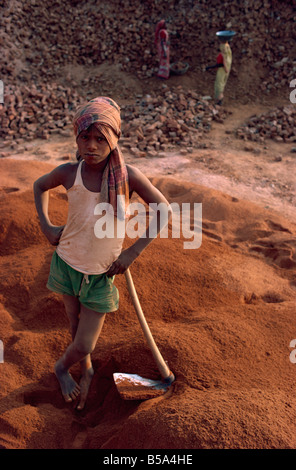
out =
<svg viewBox="0 0 296 470"><path fill-rule="evenodd" d="M111 98L100 96L81 106L73 121L76 138L92 124L103 134L111 151L102 177L101 202L110 203L115 216L123 220L126 216L129 187L127 169L117 145L121 135L120 108L117 103Z"/></svg>

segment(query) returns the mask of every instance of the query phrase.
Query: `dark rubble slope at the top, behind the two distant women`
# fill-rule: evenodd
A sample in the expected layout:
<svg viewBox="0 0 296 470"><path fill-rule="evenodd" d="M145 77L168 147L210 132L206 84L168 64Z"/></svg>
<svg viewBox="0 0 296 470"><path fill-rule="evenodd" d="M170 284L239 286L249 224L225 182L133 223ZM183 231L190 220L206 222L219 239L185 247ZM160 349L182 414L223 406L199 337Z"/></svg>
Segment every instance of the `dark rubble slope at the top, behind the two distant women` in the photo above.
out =
<svg viewBox="0 0 296 470"><path fill-rule="evenodd" d="M161 18L167 21L174 62L202 70L216 57L215 33L232 29L237 32L235 66L243 66L246 74L250 62L257 64L262 92L295 78L294 0L181 0L178 6L159 0L111 0L99 6L93 0L2 4L2 79L57 81L66 64L89 67L108 61L149 78L157 67L154 31Z"/></svg>

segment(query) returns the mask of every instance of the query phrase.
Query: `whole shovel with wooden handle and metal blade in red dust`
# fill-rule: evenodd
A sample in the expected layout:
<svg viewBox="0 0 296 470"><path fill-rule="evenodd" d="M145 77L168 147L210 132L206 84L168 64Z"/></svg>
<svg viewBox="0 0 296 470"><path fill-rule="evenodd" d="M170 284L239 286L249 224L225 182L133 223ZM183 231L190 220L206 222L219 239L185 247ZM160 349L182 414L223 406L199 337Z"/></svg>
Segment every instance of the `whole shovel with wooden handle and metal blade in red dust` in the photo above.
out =
<svg viewBox="0 0 296 470"><path fill-rule="evenodd" d="M113 374L113 377L117 390L124 400L148 400L166 393L172 382L174 382L175 376L170 371L167 363L164 361L153 339L150 328L141 308L129 269L127 269L125 272L125 279L141 328L156 361L162 380L145 379L137 374L122 373L115 373Z"/></svg>

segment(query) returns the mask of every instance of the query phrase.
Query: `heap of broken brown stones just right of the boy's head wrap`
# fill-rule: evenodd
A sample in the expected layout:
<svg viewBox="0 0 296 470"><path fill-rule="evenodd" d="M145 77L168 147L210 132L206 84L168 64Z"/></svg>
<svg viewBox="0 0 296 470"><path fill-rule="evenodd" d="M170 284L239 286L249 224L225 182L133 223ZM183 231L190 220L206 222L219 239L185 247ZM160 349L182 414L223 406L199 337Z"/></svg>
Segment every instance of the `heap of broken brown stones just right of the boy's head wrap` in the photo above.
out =
<svg viewBox="0 0 296 470"><path fill-rule="evenodd" d="M190 152L217 116L226 115L194 91L164 86L163 94L138 97L134 105L123 107L122 143L139 156L148 152L153 157L177 146Z"/></svg>

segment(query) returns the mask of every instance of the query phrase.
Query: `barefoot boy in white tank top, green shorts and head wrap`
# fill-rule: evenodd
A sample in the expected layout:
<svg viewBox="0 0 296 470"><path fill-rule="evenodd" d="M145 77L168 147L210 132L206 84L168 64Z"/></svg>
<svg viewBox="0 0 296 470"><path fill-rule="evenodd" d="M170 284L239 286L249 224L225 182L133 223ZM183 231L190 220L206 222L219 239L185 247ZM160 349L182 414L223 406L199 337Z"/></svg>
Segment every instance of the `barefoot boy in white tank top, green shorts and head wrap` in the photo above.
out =
<svg viewBox="0 0 296 470"><path fill-rule="evenodd" d="M120 108L107 97L98 97L81 107L74 117L78 161L58 166L34 183L34 196L41 229L57 246L51 261L47 287L63 295L70 321L72 343L55 364L55 374L66 402L80 395L83 409L94 374L90 354L101 333L105 315L118 309L114 276L122 274L153 240L139 238L122 251L124 235L116 224L125 219L129 196L135 191L147 204L165 203L166 198L138 169L125 165L117 146L121 134ZM54 226L48 216L48 191L62 185L68 194L69 211L65 226ZM98 238L94 226L95 207L108 203L115 224L114 237ZM109 219L111 221L111 219ZM157 214L157 233L161 230ZM70 367L80 362L78 385Z"/></svg>

